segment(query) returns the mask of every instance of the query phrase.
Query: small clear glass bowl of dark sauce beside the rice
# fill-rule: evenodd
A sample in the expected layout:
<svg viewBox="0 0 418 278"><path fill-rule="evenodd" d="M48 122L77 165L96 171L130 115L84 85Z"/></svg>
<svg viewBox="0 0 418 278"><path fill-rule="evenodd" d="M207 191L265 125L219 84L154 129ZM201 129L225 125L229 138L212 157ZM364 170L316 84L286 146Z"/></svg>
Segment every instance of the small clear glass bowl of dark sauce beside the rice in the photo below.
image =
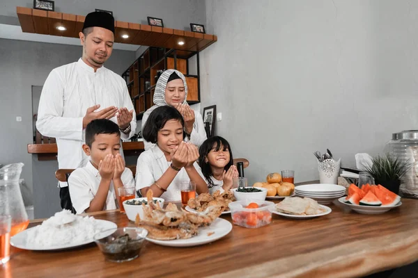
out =
<svg viewBox="0 0 418 278"><path fill-rule="evenodd" d="M107 261L122 263L132 261L139 256L148 231L136 227L123 227L103 238L107 234L109 231L100 231L93 239Z"/></svg>

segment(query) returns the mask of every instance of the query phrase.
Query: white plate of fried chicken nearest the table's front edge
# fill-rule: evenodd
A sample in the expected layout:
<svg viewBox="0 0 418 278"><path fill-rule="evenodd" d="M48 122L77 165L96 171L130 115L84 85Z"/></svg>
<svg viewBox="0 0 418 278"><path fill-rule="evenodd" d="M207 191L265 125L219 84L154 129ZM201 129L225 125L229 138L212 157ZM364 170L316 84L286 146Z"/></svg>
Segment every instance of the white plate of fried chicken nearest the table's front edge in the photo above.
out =
<svg viewBox="0 0 418 278"><path fill-rule="evenodd" d="M152 190L147 198L151 199ZM139 214L135 223L148 231L146 240L164 246L189 247L211 243L229 234L232 224L222 218L222 206L207 206L205 211L190 213L176 204L169 203L166 208L148 202L142 204L144 218Z"/></svg>

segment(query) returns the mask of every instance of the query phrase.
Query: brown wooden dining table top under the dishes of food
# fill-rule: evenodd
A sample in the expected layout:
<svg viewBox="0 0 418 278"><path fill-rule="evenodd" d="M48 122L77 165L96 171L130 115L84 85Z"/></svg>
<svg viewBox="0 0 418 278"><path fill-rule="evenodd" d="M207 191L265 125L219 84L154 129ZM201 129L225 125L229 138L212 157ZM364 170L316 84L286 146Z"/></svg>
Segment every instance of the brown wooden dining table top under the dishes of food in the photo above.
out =
<svg viewBox="0 0 418 278"><path fill-rule="evenodd" d="M273 215L264 227L233 225L223 238L196 247L147 242L137 259L125 263L105 261L95 243L56 252L12 247L0 277L361 277L418 260L418 200L402 202L387 213L365 215L335 201L328 215ZM135 225L119 211L90 215L118 227ZM232 222L231 215L221 217Z"/></svg>

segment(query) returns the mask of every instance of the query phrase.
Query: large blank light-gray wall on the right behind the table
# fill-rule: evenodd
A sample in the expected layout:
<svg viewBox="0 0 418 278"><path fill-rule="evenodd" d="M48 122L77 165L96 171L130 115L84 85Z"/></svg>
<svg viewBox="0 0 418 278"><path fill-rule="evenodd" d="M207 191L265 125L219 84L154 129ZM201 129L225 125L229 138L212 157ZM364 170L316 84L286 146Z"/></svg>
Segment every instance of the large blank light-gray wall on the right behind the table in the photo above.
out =
<svg viewBox="0 0 418 278"><path fill-rule="evenodd" d="M249 158L249 183L295 170L318 179L312 152L342 165L418 129L417 1L206 1L202 108Z"/></svg>

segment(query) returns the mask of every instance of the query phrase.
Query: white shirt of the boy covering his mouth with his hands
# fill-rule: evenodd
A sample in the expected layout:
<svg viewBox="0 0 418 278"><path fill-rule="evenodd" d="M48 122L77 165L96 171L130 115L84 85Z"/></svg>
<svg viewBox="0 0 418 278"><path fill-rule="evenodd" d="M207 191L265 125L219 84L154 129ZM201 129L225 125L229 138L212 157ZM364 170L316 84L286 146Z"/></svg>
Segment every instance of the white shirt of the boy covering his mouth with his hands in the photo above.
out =
<svg viewBox="0 0 418 278"><path fill-rule="evenodd" d="M93 200L98 192L101 180L99 170L91 164L91 161L85 167L77 168L70 174L68 178L68 189L70 190L72 206L77 211L77 214L84 213L90 206L91 200ZM132 171L127 167L123 170L121 180L124 187L135 185ZM111 209L116 209L116 195L113 181L110 182L109 193L107 193L103 211Z"/></svg>

